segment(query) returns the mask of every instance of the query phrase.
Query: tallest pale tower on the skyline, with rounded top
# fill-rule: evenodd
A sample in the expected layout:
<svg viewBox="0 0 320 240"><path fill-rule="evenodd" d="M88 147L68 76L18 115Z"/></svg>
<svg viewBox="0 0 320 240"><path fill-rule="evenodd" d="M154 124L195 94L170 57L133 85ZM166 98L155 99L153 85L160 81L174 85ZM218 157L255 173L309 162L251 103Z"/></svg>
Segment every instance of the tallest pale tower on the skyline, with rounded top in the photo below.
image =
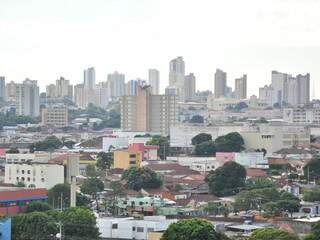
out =
<svg viewBox="0 0 320 240"><path fill-rule="evenodd" d="M176 88L180 101L185 100L185 64L182 57L177 57L169 64L169 87Z"/></svg>

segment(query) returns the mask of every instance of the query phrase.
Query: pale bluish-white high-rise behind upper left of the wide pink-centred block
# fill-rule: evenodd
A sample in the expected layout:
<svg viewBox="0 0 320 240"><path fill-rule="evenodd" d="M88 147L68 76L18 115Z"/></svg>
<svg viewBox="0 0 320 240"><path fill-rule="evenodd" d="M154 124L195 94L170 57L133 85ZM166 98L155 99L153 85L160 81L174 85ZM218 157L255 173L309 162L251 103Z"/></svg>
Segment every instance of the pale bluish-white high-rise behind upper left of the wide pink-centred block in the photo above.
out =
<svg viewBox="0 0 320 240"><path fill-rule="evenodd" d="M117 71L108 74L108 88L111 98L125 95L125 75Z"/></svg>

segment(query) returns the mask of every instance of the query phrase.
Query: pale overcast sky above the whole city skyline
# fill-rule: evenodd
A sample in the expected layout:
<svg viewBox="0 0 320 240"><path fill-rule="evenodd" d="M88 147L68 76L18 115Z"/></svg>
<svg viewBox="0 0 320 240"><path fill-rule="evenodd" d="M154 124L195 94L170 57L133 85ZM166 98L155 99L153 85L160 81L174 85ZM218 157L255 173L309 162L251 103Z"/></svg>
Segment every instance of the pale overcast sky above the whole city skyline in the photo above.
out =
<svg viewBox="0 0 320 240"><path fill-rule="evenodd" d="M91 66L97 82L157 68L163 90L183 56L199 90L213 89L216 68L232 87L246 73L250 95L271 70L309 72L320 98L319 13L318 0L0 0L0 75L44 90L60 76L81 83Z"/></svg>

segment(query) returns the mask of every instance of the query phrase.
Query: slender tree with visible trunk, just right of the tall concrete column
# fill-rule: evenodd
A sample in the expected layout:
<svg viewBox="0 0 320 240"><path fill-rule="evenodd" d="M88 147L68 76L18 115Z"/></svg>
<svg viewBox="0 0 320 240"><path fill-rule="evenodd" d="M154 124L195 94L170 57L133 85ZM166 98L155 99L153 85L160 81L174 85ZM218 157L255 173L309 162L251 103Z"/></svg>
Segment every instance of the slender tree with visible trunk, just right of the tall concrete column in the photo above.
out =
<svg viewBox="0 0 320 240"><path fill-rule="evenodd" d="M80 186L80 191L83 194L91 195L91 197L96 201L98 211L99 211L98 193L102 192L103 189L104 189L104 184L97 177L88 178L84 180L82 185Z"/></svg>

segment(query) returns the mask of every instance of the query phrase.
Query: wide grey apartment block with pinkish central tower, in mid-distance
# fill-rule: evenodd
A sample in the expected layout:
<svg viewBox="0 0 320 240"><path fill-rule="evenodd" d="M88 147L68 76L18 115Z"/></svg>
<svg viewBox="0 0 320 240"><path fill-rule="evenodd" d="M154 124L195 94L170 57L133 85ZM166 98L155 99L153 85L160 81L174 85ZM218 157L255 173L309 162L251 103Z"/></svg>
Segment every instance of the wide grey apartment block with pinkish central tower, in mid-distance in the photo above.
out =
<svg viewBox="0 0 320 240"><path fill-rule="evenodd" d="M149 86L139 86L136 96L121 98L121 128L168 134L178 121L177 100L176 95L152 95Z"/></svg>

